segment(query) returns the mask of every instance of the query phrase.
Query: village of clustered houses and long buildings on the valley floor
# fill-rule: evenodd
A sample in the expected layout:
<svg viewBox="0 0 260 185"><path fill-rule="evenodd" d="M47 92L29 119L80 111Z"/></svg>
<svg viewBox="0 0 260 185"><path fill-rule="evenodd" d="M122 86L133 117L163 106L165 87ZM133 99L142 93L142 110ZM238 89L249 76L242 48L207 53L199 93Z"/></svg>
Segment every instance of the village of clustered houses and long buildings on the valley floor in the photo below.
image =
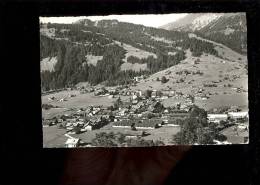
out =
<svg viewBox="0 0 260 185"><path fill-rule="evenodd" d="M135 77L138 82L144 76ZM56 147L95 147L92 140L101 132L124 134L128 140L144 139L160 142L163 145L174 144L172 135L180 131L180 126L189 117L190 110L196 99L207 100L202 89L197 95L183 94L175 90L132 90L130 86L117 87L75 87L79 94L92 94L97 98L107 98L113 102L110 106L89 105L73 109L69 113L61 113L53 117L43 118L43 131L57 128L62 134L49 138L44 145L52 140L57 142ZM68 88L67 92L74 92ZM43 104L43 109L58 108L52 102L64 102L77 95L68 93L66 98L57 99L55 92L49 93L48 103ZM165 107L162 101L174 97L184 101ZM225 110L213 109L208 111L207 121L215 123L221 133L226 135L226 141L215 141L215 144L241 144L248 142L248 111L236 106L226 107ZM163 129L163 130L162 130ZM168 133L167 133L168 132ZM160 134L163 133L163 134ZM55 143L55 142L54 142ZM122 146L127 146L124 144ZM52 145L52 147L55 147Z"/></svg>

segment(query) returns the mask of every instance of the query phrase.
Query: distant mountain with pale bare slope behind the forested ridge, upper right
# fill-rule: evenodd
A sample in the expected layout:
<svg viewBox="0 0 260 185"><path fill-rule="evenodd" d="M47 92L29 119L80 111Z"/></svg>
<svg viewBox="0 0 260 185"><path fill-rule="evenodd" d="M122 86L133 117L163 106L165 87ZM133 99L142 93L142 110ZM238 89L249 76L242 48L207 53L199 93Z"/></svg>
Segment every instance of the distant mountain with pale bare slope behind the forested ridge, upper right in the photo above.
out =
<svg viewBox="0 0 260 185"><path fill-rule="evenodd" d="M193 32L246 54L247 27L245 13L195 13L168 23L162 29Z"/></svg>

